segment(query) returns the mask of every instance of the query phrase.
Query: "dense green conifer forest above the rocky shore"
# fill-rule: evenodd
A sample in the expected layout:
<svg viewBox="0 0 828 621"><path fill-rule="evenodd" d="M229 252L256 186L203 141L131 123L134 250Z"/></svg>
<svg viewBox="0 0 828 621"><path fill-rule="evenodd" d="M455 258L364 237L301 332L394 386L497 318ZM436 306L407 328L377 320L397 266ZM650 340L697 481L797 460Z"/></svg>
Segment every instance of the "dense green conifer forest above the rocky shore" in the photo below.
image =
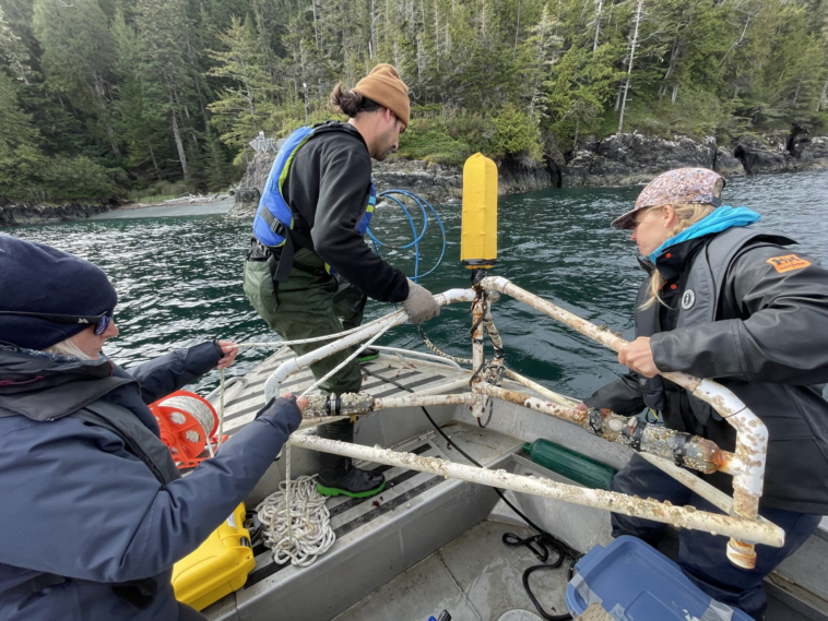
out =
<svg viewBox="0 0 828 621"><path fill-rule="evenodd" d="M0 196L226 188L378 62L401 155L828 124L828 0L0 0Z"/></svg>

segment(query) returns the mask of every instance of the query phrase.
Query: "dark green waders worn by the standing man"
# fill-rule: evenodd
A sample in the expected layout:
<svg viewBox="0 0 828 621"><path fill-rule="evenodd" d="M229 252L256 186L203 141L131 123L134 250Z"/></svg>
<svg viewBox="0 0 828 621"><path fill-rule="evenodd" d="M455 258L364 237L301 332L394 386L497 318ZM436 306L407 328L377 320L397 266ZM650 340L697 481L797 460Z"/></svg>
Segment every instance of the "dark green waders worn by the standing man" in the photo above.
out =
<svg viewBox="0 0 828 621"><path fill-rule="evenodd" d="M301 268L298 268L300 265ZM263 260L245 261L245 295L261 318L268 322L285 341L298 341L314 336L334 334L358 326L363 321L366 295L346 280L324 272L324 261L314 251L297 249L291 276L279 284L279 307L273 290L268 262ZM274 310L275 308L275 310ZM330 342L292 345L297 356L301 356ZM334 367L353 354L353 349L339 351L310 366L314 378L324 377ZM332 378L319 385L326 393L357 393L363 385L359 365L353 360ZM317 430L320 438L353 442L354 423L350 420L322 425ZM321 480L335 480L343 470L351 468L347 457L330 453L320 453ZM354 493L340 488L327 488L320 483L323 493L347 495L371 495L382 487L365 492ZM385 483L383 483L385 486Z"/></svg>

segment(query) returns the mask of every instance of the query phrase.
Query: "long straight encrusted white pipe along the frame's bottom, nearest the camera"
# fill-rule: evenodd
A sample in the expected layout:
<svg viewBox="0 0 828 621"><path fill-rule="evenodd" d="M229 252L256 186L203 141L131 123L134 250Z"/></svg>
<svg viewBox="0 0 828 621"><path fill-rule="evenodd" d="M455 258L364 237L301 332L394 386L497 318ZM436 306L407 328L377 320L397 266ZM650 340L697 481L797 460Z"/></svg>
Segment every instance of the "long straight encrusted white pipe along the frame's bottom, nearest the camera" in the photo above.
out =
<svg viewBox="0 0 828 621"><path fill-rule="evenodd" d="M774 548L780 548L784 545L784 530L773 524L756 520L696 511L693 507L674 506L651 499L640 499L612 491L568 486L551 479L512 475L505 470L487 470L438 457L399 453L379 446L362 446L359 444L327 440L303 433L295 433L291 437L289 442L294 446L310 451L332 453L334 455L351 457L352 459L364 459L398 468L430 473L447 479L454 478L498 489L509 489L514 492L530 493L573 504L604 509L624 515L672 524L679 528L691 528L717 535L725 535Z"/></svg>

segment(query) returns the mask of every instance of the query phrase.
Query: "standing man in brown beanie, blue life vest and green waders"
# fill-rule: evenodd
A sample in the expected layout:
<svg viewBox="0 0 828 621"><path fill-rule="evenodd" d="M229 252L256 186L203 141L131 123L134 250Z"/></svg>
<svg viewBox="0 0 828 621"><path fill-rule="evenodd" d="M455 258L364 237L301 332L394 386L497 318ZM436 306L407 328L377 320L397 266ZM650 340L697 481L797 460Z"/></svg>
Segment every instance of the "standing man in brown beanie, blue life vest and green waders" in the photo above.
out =
<svg viewBox="0 0 828 621"><path fill-rule="evenodd" d="M411 117L409 88L390 64L378 64L352 89L336 84L331 103L347 122L327 121L296 130L282 146L264 184L245 262L245 294L286 341L324 336L360 324L368 296L401 302L412 323L439 314L431 294L371 252L364 241L376 190L371 158L399 148ZM297 356L324 343L293 346ZM368 356L366 356L368 354ZM348 351L311 365L320 379ZM365 350L359 361L376 358ZM357 361L320 384L327 394L356 393ZM326 425L319 435L353 441L348 421ZM381 474L360 470L351 459L322 453L318 489L327 495L365 498L386 485Z"/></svg>

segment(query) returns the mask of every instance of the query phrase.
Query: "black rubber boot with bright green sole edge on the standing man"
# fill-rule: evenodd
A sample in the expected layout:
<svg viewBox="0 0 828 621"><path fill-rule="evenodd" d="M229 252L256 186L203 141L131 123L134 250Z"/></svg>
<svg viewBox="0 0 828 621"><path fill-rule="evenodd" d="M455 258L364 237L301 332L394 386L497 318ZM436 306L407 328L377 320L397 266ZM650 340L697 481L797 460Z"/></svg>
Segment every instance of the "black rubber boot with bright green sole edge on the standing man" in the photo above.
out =
<svg viewBox="0 0 828 621"><path fill-rule="evenodd" d="M354 425L350 420L330 422L317 430L320 438L352 442ZM350 457L341 457L331 453L319 453L321 469L317 480L317 490L322 495L350 495L351 498L368 498L379 493L386 487L386 477L362 470L354 466Z"/></svg>

